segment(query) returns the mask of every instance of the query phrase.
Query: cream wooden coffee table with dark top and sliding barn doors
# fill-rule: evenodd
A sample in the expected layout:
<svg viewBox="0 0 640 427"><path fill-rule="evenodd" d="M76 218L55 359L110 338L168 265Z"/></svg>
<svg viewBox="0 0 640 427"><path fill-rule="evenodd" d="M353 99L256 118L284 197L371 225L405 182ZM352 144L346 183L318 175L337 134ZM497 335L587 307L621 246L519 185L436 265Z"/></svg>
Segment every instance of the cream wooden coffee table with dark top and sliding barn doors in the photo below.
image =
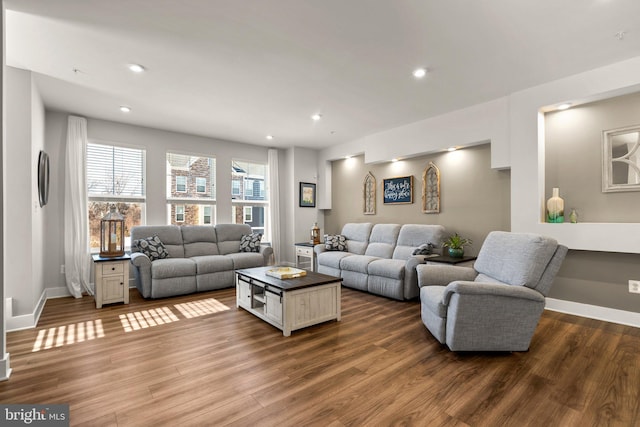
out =
<svg viewBox="0 0 640 427"><path fill-rule="evenodd" d="M305 277L280 280L267 276L267 269L236 270L238 308L280 329L285 337L297 329L340 320L340 278L308 272Z"/></svg>

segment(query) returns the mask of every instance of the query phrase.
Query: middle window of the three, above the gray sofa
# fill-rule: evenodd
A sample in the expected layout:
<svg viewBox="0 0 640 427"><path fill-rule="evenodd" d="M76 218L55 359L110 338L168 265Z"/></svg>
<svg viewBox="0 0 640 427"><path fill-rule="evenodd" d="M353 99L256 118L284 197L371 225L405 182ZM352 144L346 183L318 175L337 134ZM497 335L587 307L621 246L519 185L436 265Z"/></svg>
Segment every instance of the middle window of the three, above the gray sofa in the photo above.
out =
<svg viewBox="0 0 640 427"><path fill-rule="evenodd" d="M216 159L167 153L167 217L170 224L215 224Z"/></svg>

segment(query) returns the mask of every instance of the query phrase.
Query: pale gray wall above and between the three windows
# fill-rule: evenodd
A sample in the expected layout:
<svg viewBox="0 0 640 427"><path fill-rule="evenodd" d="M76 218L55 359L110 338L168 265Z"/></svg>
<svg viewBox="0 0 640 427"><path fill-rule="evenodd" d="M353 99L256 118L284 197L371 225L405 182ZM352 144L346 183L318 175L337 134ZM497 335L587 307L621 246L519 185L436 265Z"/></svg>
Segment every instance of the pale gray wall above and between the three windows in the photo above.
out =
<svg viewBox="0 0 640 427"><path fill-rule="evenodd" d="M51 211L47 213L45 227L45 286L65 286L59 273L64 263L63 215L64 215L64 147L66 123L69 114L47 111L46 143L51 153L52 182L50 193ZM222 141L194 135L167 132L158 129L131 126L87 118L89 140L113 142L146 149L147 155L147 202L146 223L166 224L166 152L202 154L216 158L216 218L217 222L231 222L231 161L232 159L267 163L266 147ZM285 243L287 244L287 243Z"/></svg>

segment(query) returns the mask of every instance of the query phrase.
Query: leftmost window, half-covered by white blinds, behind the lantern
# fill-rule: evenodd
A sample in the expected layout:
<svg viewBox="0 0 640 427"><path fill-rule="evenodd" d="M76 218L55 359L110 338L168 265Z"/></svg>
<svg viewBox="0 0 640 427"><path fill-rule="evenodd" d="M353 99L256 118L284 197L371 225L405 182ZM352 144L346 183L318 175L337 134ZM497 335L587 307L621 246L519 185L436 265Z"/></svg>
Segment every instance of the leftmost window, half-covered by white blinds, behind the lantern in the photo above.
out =
<svg viewBox="0 0 640 427"><path fill-rule="evenodd" d="M89 246L100 249L100 221L115 204L125 218L125 247L131 227L144 224L145 150L108 144L87 144Z"/></svg>

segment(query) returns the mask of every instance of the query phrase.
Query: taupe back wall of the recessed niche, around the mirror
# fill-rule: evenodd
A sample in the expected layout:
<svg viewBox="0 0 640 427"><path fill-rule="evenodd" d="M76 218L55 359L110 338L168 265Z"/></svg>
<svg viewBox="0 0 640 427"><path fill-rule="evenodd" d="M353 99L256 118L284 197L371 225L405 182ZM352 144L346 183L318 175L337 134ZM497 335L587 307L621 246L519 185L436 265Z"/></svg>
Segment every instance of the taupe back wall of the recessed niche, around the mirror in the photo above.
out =
<svg viewBox="0 0 640 427"><path fill-rule="evenodd" d="M545 114L545 195L560 189L565 221L640 222L640 192L602 192L602 132L640 126L640 92Z"/></svg>

